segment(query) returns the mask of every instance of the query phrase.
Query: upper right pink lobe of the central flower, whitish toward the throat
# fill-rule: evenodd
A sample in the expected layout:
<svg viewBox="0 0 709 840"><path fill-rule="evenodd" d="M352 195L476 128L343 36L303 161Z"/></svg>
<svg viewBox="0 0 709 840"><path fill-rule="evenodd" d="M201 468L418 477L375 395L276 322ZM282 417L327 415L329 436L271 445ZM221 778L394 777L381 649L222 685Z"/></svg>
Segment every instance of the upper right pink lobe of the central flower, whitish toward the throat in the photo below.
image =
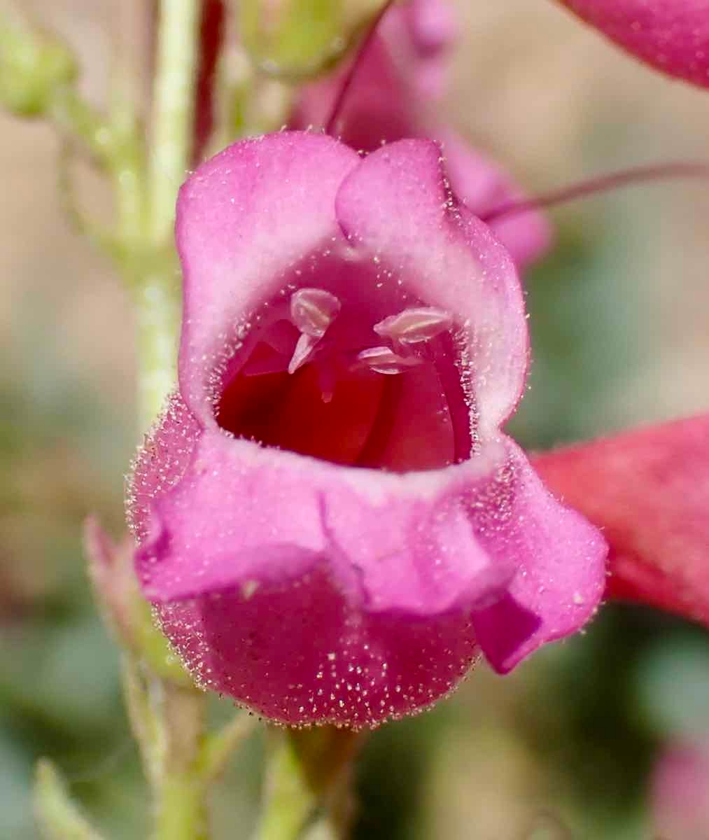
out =
<svg viewBox="0 0 709 840"><path fill-rule="evenodd" d="M344 180L335 207L362 259L381 260L428 305L470 323L480 433L494 434L527 372L522 289L507 250L450 194L439 146L400 140L373 152Z"/></svg>

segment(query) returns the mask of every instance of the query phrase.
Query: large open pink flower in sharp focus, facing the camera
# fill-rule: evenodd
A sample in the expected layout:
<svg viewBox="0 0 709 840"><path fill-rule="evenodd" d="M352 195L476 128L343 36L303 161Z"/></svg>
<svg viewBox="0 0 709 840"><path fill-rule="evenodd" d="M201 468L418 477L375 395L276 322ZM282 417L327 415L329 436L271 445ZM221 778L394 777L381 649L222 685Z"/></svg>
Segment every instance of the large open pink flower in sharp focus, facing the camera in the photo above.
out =
<svg viewBox="0 0 709 840"><path fill-rule="evenodd" d="M501 431L528 332L439 146L244 140L182 187L180 392L136 567L202 684L289 724L429 706L596 610L606 546Z"/></svg>

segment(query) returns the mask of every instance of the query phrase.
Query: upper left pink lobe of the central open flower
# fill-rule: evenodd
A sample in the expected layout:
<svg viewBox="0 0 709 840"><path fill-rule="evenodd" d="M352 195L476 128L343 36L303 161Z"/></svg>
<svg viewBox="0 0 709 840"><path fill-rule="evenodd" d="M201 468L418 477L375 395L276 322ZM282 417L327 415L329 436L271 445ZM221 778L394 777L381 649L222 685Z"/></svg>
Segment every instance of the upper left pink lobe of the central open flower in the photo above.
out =
<svg viewBox="0 0 709 840"><path fill-rule="evenodd" d="M249 314L276 294L295 260L339 235L335 193L359 160L325 135L270 134L229 146L182 186L180 386L198 417L212 410L207 372Z"/></svg>

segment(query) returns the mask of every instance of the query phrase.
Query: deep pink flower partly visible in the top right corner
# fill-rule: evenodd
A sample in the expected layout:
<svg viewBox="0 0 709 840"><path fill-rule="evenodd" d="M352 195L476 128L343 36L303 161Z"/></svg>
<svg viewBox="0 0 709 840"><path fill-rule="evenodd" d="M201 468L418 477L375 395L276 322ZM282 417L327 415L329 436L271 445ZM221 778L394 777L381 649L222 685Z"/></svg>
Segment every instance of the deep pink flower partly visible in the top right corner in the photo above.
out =
<svg viewBox="0 0 709 840"><path fill-rule="evenodd" d="M628 52L709 87L709 0L561 0Z"/></svg>

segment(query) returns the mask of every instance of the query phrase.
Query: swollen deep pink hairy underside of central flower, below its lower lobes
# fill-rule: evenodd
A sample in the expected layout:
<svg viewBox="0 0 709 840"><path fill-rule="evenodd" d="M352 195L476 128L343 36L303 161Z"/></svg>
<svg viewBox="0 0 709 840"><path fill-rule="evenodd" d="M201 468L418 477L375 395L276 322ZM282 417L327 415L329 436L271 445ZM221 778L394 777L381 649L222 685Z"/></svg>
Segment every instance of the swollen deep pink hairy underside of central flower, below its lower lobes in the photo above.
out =
<svg viewBox="0 0 709 840"><path fill-rule="evenodd" d="M297 588L223 591L158 614L200 685L291 725L402 717L453 690L477 656L463 612L362 613L321 568Z"/></svg>

